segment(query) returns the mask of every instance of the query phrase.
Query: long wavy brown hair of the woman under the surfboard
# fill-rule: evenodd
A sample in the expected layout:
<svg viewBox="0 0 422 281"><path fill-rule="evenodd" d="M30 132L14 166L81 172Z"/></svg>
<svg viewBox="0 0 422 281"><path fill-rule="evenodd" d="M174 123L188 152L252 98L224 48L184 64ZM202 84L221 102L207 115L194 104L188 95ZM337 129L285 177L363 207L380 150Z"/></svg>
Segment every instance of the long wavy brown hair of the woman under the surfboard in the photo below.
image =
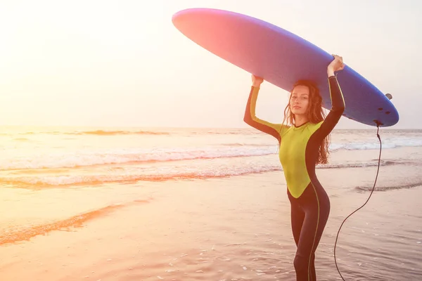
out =
<svg viewBox="0 0 422 281"><path fill-rule="evenodd" d="M307 108L307 119L311 123L319 123L321 121L324 121L326 115L324 113L323 107L322 107L322 98L319 94L318 87L314 84L314 82L309 80L299 80L293 85L293 89L295 89L295 86L307 86L309 89L309 104ZM283 123L288 126L293 126L295 124L295 115L292 114L290 110L290 98L293 93L290 91L290 96L288 98L288 105L284 109L284 119ZM321 145L319 146L319 152L318 152L318 159L316 160L316 164L327 164L328 163L328 146L330 145L330 134L324 138Z"/></svg>

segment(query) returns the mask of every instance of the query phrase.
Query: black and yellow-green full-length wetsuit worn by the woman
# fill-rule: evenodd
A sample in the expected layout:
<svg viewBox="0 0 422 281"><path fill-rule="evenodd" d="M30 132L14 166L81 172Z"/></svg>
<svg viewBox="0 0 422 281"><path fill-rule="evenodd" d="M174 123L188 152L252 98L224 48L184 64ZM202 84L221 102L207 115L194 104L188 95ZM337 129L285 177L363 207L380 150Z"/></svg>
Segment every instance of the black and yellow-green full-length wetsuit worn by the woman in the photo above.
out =
<svg viewBox="0 0 422 281"><path fill-rule="evenodd" d="M336 77L328 77L332 108L317 124L286 126L255 116L259 88L252 86L245 110L245 122L279 141L279 159L286 177L291 204L293 237L298 247L293 262L296 280L315 281L315 251L330 213L330 200L315 174L319 146L333 130L345 110L343 93Z"/></svg>

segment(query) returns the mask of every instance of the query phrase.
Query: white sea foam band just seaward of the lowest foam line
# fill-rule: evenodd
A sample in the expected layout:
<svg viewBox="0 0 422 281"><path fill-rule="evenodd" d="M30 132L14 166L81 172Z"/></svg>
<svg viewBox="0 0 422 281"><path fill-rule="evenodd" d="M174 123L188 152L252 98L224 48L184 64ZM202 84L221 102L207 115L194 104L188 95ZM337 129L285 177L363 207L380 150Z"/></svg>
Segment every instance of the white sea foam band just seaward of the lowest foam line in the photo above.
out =
<svg viewBox="0 0 422 281"><path fill-rule="evenodd" d="M390 138L383 140L383 149L404 146L422 146L422 138ZM330 150L373 150L379 149L379 143L331 143ZM11 169L55 169L94 166L104 164L128 164L148 162L171 162L191 159L218 159L227 157L254 157L271 155L278 151L277 145L221 145L203 148L160 148L160 149L105 149L77 150L75 152L46 151L37 155L18 155L3 153L0 170Z"/></svg>

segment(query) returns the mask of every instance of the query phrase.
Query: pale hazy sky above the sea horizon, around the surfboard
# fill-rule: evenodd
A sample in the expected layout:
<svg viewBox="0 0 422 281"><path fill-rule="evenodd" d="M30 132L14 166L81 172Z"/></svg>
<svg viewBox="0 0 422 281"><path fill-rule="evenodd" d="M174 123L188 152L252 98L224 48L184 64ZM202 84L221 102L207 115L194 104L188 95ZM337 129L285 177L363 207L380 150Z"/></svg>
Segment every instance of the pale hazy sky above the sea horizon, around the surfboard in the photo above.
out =
<svg viewBox="0 0 422 281"><path fill-rule="evenodd" d="M419 0L1 1L0 124L248 126L250 74L172 25L195 7L252 15L342 55L393 94L393 129L422 129ZM287 97L263 84L257 115L281 122Z"/></svg>

